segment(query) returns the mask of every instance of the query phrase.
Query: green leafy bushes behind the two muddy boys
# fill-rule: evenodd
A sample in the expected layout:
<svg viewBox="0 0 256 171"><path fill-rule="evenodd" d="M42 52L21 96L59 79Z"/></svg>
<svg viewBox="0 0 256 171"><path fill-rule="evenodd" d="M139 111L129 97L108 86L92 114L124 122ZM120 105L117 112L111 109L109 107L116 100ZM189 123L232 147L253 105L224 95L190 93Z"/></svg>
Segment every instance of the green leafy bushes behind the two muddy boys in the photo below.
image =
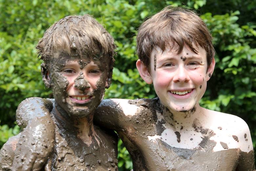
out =
<svg viewBox="0 0 256 171"><path fill-rule="evenodd" d="M117 44L113 83L105 98L153 98L136 69L136 34L145 17L167 5L195 9L214 36L215 71L203 107L245 120L256 144L256 1L251 0L0 0L0 147L19 131L15 110L28 97L52 98L40 75L35 45L54 22L89 13ZM238 125L239 126L239 125ZM132 163L118 143L119 170Z"/></svg>

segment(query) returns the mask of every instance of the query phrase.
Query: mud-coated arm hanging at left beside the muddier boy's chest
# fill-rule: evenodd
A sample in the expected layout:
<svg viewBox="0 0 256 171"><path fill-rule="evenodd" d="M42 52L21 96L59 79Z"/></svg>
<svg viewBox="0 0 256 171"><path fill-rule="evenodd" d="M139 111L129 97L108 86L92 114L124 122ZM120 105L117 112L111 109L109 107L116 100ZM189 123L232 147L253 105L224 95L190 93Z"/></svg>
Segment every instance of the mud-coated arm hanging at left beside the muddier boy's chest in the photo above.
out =
<svg viewBox="0 0 256 171"><path fill-rule="evenodd" d="M22 131L12 170L41 170L52 156L55 140L52 108L52 101L42 98L29 98L18 106L16 119Z"/></svg>

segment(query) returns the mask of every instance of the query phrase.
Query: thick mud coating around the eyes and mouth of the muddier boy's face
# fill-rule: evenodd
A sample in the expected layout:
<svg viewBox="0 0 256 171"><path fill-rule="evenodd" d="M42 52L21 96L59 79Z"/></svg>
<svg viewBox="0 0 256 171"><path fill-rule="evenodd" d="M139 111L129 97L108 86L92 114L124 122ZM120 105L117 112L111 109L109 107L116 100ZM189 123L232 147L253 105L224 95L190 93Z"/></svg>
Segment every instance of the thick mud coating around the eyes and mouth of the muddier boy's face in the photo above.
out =
<svg viewBox="0 0 256 171"><path fill-rule="evenodd" d="M95 58L97 59L97 58ZM88 59L85 56L80 57L78 55L69 55L65 52L61 52L56 55L55 58L52 59L52 69L50 70L50 79L53 84L53 96L57 103L65 110L68 111L70 115L75 117L86 117L98 106L104 96L105 92L105 83L107 80L107 69L106 63L108 63L108 59L104 58L101 61L93 59ZM69 61L77 61L78 64L89 64L91 61L94 62L99 67L99 70L102 72L100 79L97 81L96 86L97 89L94 89L93 92L84 92L86 87L88 87L88 81L83 78L83 74L79 74L79 76L75 79L76 88L80 89L83 95L95 96L88 103L79 104L74 102L66 103L66 99L68 99L68 94L66 89L69 85L66 77L62 75L62 69L68 65ZM81 62L82 61L82 62ZM81 66L81 65L80 65ZM86 65L84 66L86 67ZM77 106L87 106L87 109L80 109Z"/></svg>

